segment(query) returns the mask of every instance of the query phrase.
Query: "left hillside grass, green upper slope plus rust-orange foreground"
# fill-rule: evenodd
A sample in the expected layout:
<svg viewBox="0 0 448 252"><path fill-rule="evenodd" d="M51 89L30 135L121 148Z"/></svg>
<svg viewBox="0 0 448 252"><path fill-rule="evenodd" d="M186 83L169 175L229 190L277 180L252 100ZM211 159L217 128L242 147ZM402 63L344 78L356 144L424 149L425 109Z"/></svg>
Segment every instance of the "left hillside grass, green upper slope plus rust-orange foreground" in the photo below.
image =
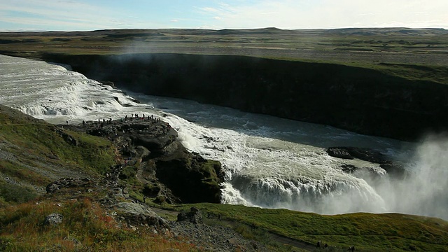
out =
<svg viewBox="0 0 448 252"><path fill-rule="evenodd" d="M106 139L63 130L78 141L74 146L55 128L0 106L0 155L13 156L0 158L0 174L16 181L0 181L0 251L197 251L181 238L168 240L148 228L119 228L93 200L104 192L38 196L35 186L45 187L61 174L100 176L115 163ZM61 225L44 225L52 213L64 216Z"/></svg>

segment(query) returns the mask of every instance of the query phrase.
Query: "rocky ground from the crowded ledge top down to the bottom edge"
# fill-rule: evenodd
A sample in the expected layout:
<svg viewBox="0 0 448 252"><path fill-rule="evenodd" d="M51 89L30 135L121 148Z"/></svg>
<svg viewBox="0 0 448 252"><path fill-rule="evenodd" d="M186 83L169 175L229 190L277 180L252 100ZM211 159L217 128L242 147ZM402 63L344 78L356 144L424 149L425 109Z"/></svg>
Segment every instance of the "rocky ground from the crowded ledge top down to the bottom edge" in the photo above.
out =
<svg viewBox="0 0 448 252"><path fill-rule="evenodd" d="M77 177L50 183L46 188L48 197L57 200L79 200L87 193L93 200L100 202L122 227L151 228L154 233L172 239L186 239L205 251L269 251L260 242L242 237L230 228L229 223L221 222L221 217L205 216L207 214L195 208L190 212L181 213L154 209L148 206L149 200L144 199L145 202L142 202L130 196L127 184L120 181L123 169L140 164L137 165L140 167L137 168L137 179L141 183L150 183L151 179L143 175L148 173L145 171L146 163L152 162L153 158L166 159L167 155L176 157L185 151L176 143L177 132L159 118L132 115L122 120L104 119L97 122L83 122L80 125L59 126L109 138L118 146L118 165L106 172L103 179ZM159 186L165 191L165 197L173 201L176 199L169 188L160 184ZM176 221L162 218L157 213L176 218ZM210 224L214 221L221 223Z"/></svg>

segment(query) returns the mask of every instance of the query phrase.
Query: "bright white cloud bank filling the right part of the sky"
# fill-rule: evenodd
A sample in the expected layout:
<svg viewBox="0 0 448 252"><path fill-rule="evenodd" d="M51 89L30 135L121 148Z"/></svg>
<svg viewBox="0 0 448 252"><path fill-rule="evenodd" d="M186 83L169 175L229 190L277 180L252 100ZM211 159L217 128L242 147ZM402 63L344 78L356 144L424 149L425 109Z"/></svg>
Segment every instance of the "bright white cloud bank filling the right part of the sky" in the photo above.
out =
<svg viewBox="0 0 448 252"><path fill-rule="evenodd" d="M446 0L234 1L200 8L225 28L447 27Z"/></svg>

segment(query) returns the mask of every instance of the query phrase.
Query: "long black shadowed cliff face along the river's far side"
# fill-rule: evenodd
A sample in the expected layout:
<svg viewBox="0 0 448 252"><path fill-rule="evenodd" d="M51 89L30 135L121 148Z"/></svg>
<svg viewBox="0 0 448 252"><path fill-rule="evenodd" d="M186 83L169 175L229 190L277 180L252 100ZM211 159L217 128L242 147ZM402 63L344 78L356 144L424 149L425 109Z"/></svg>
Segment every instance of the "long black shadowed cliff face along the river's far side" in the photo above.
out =
<svg viewBox="0 0 448 252"><path fill-rule="evenodd" d="M371 69L218 55L45 55L145 94L414 140L447 130L448 86Z"/></svg>

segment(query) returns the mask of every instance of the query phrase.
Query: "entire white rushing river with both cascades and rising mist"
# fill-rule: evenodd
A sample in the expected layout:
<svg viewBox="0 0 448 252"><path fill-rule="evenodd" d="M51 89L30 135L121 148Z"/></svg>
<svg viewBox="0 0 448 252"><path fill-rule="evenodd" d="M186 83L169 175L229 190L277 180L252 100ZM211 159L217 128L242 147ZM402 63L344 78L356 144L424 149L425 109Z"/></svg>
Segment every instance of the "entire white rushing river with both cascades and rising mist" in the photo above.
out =
<svg viewBox="0 0 448 252"><path fill-rule="evenodd" d="M448 219L444 137L430 138L414 149L409 143L325 125L183 99L125 94L66 68L0 55L0 104L49 123L116 119L132 113L161 116L179 132L186 148L223 163L223 203L319 214L398 211ZM415 175L393 181L378 165L330 157L324 150L330 146L377 149L407 160L407 169ZM370 172L346 174L344 164Z"/></svg>

